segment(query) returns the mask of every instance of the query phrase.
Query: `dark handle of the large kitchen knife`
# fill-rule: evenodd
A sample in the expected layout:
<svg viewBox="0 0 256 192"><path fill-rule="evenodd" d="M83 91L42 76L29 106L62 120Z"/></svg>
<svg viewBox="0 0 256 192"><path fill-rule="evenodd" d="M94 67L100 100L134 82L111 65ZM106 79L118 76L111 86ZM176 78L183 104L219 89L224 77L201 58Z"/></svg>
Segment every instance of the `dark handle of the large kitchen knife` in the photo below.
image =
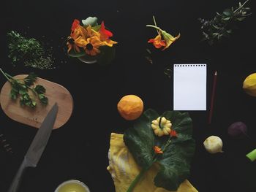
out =
<svg viewBox="0 0 256 192"><path fill-rule="evenodd" d="M15 177L12 180L12 184L11 184L8 192L17 192L18 191L18 187L20 185L21 177L23 175L24 170L28 166L29 166L29 161L27 161L26 157L25 157L22 164L20 165L20 168L18 169L18 172L15 174Z"/></svg>

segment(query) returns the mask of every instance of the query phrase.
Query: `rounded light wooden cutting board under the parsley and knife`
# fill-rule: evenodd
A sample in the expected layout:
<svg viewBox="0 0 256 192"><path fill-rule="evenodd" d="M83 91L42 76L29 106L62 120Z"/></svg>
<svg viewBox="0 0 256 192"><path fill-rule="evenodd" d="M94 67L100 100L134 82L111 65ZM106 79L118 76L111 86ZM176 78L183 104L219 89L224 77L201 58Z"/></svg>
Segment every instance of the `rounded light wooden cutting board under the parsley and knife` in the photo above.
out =
<svg viewBox="0 0 256 192"><path fill-rule="evenodd" d="M19 74L15 76L15 78L23 79L26 76L27 74ZM34 85L37 84L44 86L46 89L45 96L48 97L48 104L46 106L43 106L39 100L36 100L37 107L34 109L26 106L21 107L19 99L12 100L10 98L11 85L10 82L6 82L0 93L2 110L12 120L39 128L47 113L50 111L51 107L53 107L53 104L57 103L59 110L53 129L60 128L67 123L67 120L69 120L72 115L73 99L71 94L62 85L39 77L37 77L37 81Z"/></svg>

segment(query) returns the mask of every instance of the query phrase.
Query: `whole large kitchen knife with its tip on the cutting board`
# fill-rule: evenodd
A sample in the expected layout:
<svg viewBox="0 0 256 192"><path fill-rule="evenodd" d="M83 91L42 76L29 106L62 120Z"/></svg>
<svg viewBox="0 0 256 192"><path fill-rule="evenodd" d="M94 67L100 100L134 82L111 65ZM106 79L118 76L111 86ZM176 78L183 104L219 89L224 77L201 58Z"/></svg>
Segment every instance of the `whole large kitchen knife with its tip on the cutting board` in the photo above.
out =
<svg viewBox="0 0 256 192"><path fill-rule="evenodd" d="M31 142L29 150L27 151L23 159L23 162L18 169L18 172L15 174L15 177L12 180L12 184L8 192L16 192L18 190L20 179L23 175L24 170L27 167L37 166L37 163L41 158L43 151L45 150L51 131L53 129L57 112L58 106L57 104L54 104L50 112L48 112L48 114L46 115L45 120L43 120L42 125L37 131L37 134L35 135L33 141Z"/></svg>

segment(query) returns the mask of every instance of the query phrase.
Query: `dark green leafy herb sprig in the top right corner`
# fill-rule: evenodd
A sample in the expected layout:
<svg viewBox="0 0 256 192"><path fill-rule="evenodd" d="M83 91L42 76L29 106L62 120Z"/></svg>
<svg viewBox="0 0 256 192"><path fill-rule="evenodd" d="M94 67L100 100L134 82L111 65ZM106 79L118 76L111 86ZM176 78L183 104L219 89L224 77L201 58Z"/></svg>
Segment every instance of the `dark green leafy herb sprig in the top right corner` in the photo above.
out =
<svg viewBox="0 0 256 192"><path fill-rule="evenodd" d="M244 4L239 2L239 6L225 9L222 13L217 12L217 15L212 20L199 18L202 23L203 41L207 41L209 45L214 42L219 42L223 37L230 37L230 34L238 28L236 23L244 20L248 15L251 15L251 9L244 7L249 0Z"/></svg>

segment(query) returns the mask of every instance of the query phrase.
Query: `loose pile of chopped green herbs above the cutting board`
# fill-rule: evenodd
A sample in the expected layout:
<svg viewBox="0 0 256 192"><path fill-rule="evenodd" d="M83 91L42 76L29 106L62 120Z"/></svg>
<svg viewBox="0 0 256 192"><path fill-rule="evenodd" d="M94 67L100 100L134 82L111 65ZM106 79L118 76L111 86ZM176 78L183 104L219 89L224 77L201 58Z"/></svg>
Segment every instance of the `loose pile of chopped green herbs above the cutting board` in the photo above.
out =
<svg viewBox="0 0 256 192"><path fill-rule="evenodd" d="M46 50L34 38L23 37L16 31L7 33L9 55L13 66L24 64L37 69L53 69L52 50Z"/></svg>

